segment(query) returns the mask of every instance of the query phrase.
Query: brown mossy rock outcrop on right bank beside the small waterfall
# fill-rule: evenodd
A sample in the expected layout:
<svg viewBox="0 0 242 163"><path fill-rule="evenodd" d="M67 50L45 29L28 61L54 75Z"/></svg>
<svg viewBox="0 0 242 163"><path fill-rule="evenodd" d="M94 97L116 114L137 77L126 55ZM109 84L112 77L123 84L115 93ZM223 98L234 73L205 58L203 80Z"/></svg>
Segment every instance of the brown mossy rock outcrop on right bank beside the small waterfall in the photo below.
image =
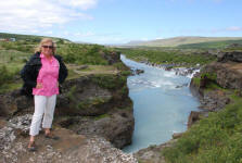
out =
<svg viewBox="0 0 242 163"><path fill-rule="evenodd" d="M200 99L203 115L219 111L231 102L231 92L222 89L242 91L242 52L220 52L219 55L217 62L195 74L190 84L192 93Z"/></svg>

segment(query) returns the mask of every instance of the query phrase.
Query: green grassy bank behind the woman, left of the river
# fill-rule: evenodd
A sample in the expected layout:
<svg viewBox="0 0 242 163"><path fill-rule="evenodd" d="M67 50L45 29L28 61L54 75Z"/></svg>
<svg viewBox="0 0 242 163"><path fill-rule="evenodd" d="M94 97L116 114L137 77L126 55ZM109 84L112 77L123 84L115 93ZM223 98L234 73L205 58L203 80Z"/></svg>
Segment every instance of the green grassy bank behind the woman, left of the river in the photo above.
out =
<svg viewBox="0 0 242 163"><path fill-rule="evenodd" d="M0 41L0 93L22 86L20 71L34 53L41 37L27 35L1 34L1 36L15 37L16 41ZM59 40L59 38L54 38ZM37 41L38 40L38 41ZM112 49L99 45L79 45L67 41L58 41L56 53L63 57L69 75L74 78L89 74L116 74L120 64L109 65L101 55L110 54ZM88 65L81 70L80 65Z"/></svg>

